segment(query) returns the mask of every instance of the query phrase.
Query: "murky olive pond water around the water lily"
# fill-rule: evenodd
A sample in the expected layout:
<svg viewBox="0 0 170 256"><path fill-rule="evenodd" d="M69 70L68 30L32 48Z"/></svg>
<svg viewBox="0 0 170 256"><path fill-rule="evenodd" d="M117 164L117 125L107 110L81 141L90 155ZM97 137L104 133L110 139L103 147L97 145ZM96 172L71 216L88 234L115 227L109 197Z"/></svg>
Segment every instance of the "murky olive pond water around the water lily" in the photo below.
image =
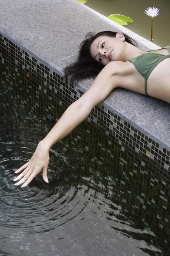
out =
<svg viewBox="0 0 170 256"><path fill-rule="evenodd" d="M151 18L144 13L144 10L156 6L160 9L160 14L153 19L153 43L161 47L170 45L169 0L88 0L85 5L106 17L111 14L130 17L133 23L129 23L127 29L148 40L150 40Z"/></svg>

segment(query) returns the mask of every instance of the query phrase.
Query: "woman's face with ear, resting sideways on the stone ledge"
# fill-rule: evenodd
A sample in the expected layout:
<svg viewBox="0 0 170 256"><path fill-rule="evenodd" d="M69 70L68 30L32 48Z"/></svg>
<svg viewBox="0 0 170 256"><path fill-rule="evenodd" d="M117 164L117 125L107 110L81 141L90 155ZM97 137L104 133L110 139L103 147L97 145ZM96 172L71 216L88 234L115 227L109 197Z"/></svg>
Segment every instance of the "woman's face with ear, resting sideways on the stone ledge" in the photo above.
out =
<svg viewBox="0 0 170 256"><path fill-rule="evenodd" d="M111 61L124 61L125 37L121 33L114 38L102 35L93 41L90 52L92 58L104 66Z"/></svg>

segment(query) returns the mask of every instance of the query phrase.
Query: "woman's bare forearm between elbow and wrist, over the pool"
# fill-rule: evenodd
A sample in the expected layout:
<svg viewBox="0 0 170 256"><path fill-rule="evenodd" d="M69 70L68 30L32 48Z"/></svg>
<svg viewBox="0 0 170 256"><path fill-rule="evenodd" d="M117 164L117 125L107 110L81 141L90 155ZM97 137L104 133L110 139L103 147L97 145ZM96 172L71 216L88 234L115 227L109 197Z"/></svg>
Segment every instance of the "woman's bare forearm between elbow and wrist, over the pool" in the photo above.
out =
<svg viewBox="0 0 170 256"><path fill-rule="evenodd" d="M91 108L85 108L79 104L78 101L74 102L67 108L41 143L43 143L45 148L50 149L52 145L57 143L59 140L62 140L71 131L73 131L77 125L84 121L90 112Z"/></svg>

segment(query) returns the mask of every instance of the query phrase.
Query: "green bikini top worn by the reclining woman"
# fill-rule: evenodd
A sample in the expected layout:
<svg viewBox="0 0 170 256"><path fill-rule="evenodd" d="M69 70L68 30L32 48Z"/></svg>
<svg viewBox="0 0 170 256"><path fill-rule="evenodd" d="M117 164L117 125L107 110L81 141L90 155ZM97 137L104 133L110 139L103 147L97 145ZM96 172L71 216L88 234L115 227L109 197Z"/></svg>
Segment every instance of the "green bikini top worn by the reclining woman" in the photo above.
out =
<svg viewBox="0 0 170 256"><path fill-rule="evenodd" d="M150 76L150 73L154 70L154 68L164 59L170 58L170 47L161 48L161 49L167 49L169 54L163 55L159 53L155 53L151 50L148 51L147 54L141 54L135 58L131 58L129 61L132 62L132 64L136 67L138 72L144 77L144 92L146 95L147 93L147 79ZM159 49L159 50L161 50ZM149 95L148 95L149 96Z"/></svg>

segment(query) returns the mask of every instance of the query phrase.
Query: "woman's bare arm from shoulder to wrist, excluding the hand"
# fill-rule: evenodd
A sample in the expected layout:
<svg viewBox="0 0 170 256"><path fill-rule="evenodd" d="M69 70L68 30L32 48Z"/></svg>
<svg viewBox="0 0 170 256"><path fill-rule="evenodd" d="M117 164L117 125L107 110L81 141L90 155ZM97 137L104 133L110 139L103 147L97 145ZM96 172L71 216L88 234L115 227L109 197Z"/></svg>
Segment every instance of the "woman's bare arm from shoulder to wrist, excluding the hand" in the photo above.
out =
<svg viewBox="0 0 170 256"><path fill-rule="evenodd" d="M108 96L116 87L116 77L113 77L112 70L112 64L104 67L91 87L65 111L56 125L54 125L48 135L41 141L41 145L50 149L54 143L62 140L77 125L84 121L92 108Z"/></svg>

